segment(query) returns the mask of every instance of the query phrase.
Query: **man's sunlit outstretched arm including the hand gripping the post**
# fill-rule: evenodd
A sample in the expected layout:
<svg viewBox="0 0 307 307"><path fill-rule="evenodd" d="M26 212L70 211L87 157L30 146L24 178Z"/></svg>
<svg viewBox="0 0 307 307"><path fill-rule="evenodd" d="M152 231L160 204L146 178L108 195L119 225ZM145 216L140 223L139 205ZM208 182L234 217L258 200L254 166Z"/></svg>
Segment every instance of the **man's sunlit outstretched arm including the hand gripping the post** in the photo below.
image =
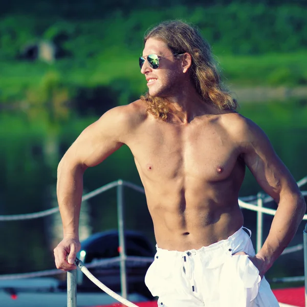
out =
<svg viewBox="0 0 307 307"><path fill-rule="evenodd" d="M63 240L55 249L56 265L71 270L79 244L79 214L83 191L83 173L119 149L136 124L131 106L106 112L82 131L58 166L57 198L63 224ZM69 255L68 262L66 256Z"/></svg>

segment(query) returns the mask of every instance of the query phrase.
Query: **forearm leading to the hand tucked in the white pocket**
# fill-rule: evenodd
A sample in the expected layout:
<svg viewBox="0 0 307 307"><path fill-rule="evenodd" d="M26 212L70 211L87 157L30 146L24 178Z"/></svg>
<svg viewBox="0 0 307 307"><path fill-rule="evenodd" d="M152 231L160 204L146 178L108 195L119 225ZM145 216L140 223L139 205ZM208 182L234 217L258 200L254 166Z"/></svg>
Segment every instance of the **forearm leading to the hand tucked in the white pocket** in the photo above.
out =
<svg viewBox="0 0 307 307"><path fill-rule="evenodd" d="M269 235L257 253L265 259L265 271L273 265L293 239L305 210L306 204L300 193L280 198Z"/></svg>

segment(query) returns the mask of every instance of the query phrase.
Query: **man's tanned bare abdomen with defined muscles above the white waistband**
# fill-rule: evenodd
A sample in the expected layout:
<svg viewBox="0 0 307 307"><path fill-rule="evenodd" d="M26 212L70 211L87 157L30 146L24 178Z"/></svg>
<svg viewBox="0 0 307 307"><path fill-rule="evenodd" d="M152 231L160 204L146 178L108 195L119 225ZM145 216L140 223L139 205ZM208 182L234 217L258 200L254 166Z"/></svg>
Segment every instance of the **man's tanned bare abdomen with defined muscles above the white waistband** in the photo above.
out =
<svg viewBox="0 0 307 307"><path fill-rule="evenodd" d="M159 248L200 249L227 239L243 226L243 214L234 195L223 197L225 202L218 203L216 199L202 197L204 195L183 200L182 195L170 193L170 197L157 203L157 194L151 198L147 193L147 204Z"/></svg>

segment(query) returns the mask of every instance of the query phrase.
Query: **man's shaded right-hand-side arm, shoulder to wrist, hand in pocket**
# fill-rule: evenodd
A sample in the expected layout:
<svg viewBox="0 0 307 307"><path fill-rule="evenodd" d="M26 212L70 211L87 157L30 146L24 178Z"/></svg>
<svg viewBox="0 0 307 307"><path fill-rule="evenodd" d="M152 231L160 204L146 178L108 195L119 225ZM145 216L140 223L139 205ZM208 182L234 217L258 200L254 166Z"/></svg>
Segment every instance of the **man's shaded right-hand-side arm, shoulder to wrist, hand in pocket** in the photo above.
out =
<svg viewBox="0 0 307 307"><path fill-rule="evenodd" d="M241 148L246 165L262 189L278 204L269 235L256 255L264 260L259 270L263 275L294 237L306 204L294 178L277 157L264 131L245 120L242 135Z"/></svg>

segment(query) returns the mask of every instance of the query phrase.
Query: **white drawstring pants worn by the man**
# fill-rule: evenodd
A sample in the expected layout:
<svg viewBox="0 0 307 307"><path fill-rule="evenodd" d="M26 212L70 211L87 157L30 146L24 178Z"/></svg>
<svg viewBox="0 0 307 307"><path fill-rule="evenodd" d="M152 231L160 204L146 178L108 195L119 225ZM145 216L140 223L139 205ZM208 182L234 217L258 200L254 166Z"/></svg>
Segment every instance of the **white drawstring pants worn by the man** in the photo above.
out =
<svg viewBox="0 0 307 307"><path fill-rule="evenodd" d="M146 286L159 297L160 307L278 307L268 281L261 280L248 256L232 255L241 251L255 255L243 228L199 250L178 252L157 246Z"/></svg>

